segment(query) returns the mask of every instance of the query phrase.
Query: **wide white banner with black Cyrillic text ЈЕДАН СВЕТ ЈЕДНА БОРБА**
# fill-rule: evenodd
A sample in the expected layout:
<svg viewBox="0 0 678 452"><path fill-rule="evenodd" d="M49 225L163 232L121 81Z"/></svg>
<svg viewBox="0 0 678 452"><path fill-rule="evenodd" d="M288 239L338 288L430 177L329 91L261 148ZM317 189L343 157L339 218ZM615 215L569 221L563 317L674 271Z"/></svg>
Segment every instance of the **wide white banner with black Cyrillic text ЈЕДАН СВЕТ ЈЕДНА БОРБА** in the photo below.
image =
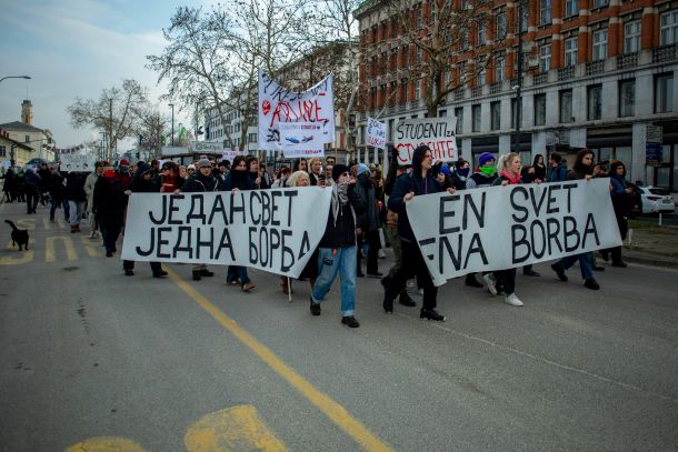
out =
<svg viewBox="0 0 678 452"><path fill-rule="evenodd" d="M331 190L133 193L122 258L253 267L297 278L322 239Z"/></svg>

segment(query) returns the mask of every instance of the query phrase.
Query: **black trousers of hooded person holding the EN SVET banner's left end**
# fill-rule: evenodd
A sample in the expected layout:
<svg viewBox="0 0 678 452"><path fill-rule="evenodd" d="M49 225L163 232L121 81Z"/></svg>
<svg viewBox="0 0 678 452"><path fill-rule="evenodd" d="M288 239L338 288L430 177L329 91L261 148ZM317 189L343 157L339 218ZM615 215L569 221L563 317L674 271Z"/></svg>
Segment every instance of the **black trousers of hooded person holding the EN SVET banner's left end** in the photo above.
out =
<svg viewBox="0 0 678 452"><path fill-rule="evenodd" d="M417 284L423 289L422 309L435 309L437 305L438 288L433 285L431 274L428 272L423 255L417 243L402 240L402 265L392 275L387 277L386 297L393 300L406 288L407 280L417 277Z"/></svg>

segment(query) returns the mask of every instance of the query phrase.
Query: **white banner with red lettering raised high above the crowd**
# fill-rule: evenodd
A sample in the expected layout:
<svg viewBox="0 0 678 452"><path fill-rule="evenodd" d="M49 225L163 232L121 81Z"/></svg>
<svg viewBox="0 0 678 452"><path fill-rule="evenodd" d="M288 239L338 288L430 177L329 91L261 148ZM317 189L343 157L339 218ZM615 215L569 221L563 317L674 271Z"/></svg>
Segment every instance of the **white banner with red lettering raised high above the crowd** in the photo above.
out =
<svg viewBox="0 0 678 452"><path fill-rule="evenodd" d="M303 92L288 91L278 82L259 71L259 149L267 151L319 150L323 143L335 141L335 99L332 76L326 77L313 88ZM282 123L312 123L319 130L313 139L300 134L298 143L282 137ZM288 138L292 138L291 135Z"/></svg>

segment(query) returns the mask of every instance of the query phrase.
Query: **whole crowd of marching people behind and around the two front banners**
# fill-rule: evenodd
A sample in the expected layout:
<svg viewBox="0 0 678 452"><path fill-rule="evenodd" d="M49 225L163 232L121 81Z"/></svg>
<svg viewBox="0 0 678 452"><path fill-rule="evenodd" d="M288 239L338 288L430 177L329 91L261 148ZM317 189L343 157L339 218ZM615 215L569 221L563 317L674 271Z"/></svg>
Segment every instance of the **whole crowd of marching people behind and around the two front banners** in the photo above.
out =
<svg viewBox="0 0 678 452"><path fill-rule="evenodd" d="M417 302L408 293L409 281L416 280L422 294L420 318L445 321L437 310L438 288L427 270L425 259L415 239L408 219L407 203L415 197L448 191L475 190L492 185L510 185L565 180L610 178L610 197L621 238L627 233L627 215L632 204L632 190L626 181L622 162L612 161L609 171L602 163L596 163L594 152L582 150L574 167L568 169L558 153L536 155L531 164L524 164L517 153L495 155L485 152L478 164L459 159L453 163L435 162L430 149L417 148L411 164L400 164L397 152L390 158L388 174L375 164L338 163L336 157L325 159L297 159L292 165L278 169L275 177L253 157L239 155L231 162L217 162L202 157L187 167L171 161L160 164L140 161L130 165L127 160L98 161L91 173L59 171L58 165L42 164L38 170L9 170L2 178L7 202L26 202L27 213L36 213L39 202L50 204L50 220L54 221L57 209L62 209L70 232L80 232L80 224L87 220L92 239L101 239L106 255L113 257L117 242L124 230L126 210L131 193L180 193L267 190L269 188L323 187L331 190L331 202L326 231L303 269L300 280L310 283L310 312L321 314L321 304L333 281L339 277L341 300L341 323L359 327L356 319L357 278L380 279L383 287L382 308L393 312L396 300L405 307L416 307ZM395 263L388 271L380 271L379 260L383 248L390 247ZM600 250L600 255L611 264L625 268L621 247ZM365 261L365 273L362 271ZM568 281L567 270L579 263L581 279L587 289L598 290L596 271L598 265L592 252L569 255L551 264L557 278ZM167 277L160 262L150 262L153 278ZM134 274L134 262L124 260L123 273ZM517 295L518 269L501 269L481 274L467 274L465 283L485 289L492 295L503 295L503 301L514 307L524 302ZM532 265L521 269L525 277L540 277ZM215 277L206 264L193 264L193 281ZM256 289L246 267L230 265L226 273L227 283L239 285L243 292ZM289 294L290 279L281 277L281 290Z"/></svg>

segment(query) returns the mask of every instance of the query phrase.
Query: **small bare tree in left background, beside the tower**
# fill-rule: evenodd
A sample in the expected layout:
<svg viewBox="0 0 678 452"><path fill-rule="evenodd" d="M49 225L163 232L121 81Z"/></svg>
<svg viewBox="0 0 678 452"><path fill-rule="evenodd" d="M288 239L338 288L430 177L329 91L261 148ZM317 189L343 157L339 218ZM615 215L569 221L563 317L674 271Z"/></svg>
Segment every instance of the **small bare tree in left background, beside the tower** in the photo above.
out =
<svg viewBox="0 0 678 452"><path fill-rule="evenodd" d="M116 155L119 140L133 137L139 124L139 111L148 102L147 89L132 79L123 80L122 87L104 89L99 99L76 98L67 108L71 124L76 129L94 127L106 132L107 153L111 160Z"/></svg>

